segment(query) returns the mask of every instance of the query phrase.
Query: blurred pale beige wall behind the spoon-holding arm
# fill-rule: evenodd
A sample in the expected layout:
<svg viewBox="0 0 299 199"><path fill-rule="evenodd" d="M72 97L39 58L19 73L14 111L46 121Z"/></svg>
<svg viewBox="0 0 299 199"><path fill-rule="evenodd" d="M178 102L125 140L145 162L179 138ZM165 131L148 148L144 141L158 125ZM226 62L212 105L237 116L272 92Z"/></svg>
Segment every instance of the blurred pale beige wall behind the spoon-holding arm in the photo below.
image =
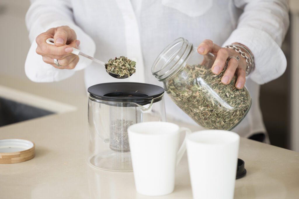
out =
<svg viewBox="0 0 299 199"><path fill-rule="evenodd" d="M0 0L0 74L24 81L30 81L24 71L24 63L30 47L25 25L25 14L29 6L29 0ZM46 87L86 95L83 71L60 82L42 84Z"/></svg>

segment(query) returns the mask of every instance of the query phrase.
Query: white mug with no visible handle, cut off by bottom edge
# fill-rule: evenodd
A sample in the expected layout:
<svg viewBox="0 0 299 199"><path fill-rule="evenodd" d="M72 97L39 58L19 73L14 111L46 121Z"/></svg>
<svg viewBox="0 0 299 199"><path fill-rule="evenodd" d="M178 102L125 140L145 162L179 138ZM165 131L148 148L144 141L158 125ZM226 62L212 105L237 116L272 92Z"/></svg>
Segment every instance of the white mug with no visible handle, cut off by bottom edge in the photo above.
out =
<svg viewBox="0 0 299 199"><path fill-rule="evenodd" d="M194 199L233 199L240 136L223 130L193 132L186 138Z"/></svg>

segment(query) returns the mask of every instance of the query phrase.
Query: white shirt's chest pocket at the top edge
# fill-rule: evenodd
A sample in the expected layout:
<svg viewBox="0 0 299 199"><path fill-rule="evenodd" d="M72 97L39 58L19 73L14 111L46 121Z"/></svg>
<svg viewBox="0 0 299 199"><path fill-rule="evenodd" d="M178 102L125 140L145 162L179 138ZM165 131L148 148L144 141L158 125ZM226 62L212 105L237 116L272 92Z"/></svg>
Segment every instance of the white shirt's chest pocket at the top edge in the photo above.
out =
<svg viewBox="0 0 299 199"><path fill-rule="evenodd" d="M162 5L174 8L190 17L198 17L212 7L213 0L162 0Z"/></svg>

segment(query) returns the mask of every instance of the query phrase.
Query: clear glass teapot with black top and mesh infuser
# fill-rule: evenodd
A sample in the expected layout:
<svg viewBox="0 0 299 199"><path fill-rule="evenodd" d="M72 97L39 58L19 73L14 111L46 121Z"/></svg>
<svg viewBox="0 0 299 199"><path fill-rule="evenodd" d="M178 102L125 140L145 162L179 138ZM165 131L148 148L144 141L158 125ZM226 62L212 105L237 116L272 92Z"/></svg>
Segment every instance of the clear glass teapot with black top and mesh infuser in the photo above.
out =
<svg viewBox="0 0 299 199"><path fill-rule="evenodd" d="M104 83L88 88L89 163L109 171L132 171L127 129L166 121L164 89L142 83Z"/></svg>

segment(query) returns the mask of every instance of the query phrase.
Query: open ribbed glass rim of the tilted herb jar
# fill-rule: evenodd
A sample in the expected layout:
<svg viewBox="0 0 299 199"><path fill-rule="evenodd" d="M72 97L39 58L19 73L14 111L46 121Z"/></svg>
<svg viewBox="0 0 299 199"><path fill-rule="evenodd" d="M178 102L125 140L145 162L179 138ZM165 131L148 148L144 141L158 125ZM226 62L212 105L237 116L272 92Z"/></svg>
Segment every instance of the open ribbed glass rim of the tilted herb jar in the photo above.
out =
<svg viewBox="0 0 299 199"><path fill-rule="evenodd" d="M174 50L174 52L170 55L167 55L167 53L173 50L178 44L181 44L181 46ZM165 47L155 59L151 68L152 74L159 81L165 81L184 66L184 63L186 62L192 50L193 44L189 43L187 39L183 37L177 38L172 43L167 45L167 47Z"/></svg>

